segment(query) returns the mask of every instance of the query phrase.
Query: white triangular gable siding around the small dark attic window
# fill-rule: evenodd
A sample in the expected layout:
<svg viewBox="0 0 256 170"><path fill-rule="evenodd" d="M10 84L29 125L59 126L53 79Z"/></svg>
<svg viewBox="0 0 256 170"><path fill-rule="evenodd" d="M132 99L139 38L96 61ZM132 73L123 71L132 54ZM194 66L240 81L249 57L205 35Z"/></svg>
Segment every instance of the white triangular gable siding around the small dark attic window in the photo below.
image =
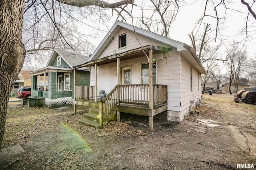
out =
<svg viewBox="0 0 256 170"><path fill-rule="evenodd" d="M119 49L119 35L122 35L124 33L126 33L126 47L122 47L122 48ZM137 36L140 43L138 43L138 40L136 39L136 36ZM132 31L128 31L124 28L120 29L118 34L114 37L113 41L104 50L104 52L99 57L99 59L101 59L103 57L110 56L110 55L114 55L114 54L117 54L117 53L122 53L122 52L125 52L125 51L136 49L136 48L141 47L141 45L142 46L146 46L146 45L160 46L161 45L157 41L154 41L154 40L146 38L146 37L142 37L141 35L136 34L136 36L135 36L134 32L132 32Z"/></svg>

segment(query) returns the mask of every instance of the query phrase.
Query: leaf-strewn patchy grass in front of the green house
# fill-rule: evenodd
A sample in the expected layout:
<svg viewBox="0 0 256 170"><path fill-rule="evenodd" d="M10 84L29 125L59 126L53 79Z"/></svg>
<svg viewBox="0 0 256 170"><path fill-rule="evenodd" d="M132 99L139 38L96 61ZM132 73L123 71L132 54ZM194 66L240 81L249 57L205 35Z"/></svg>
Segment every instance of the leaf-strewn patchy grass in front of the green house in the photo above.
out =
<svg viewBox="0 0 256 170"><path fill-rule="evenodd" d="M6 127L2 147L30 141L34 134L60 129L62 123L75 126L77 119L82 114L74 114L74 107L61 107L50 109L49 107L21 106L10 102L7 109ZM78 107L78 113L88 112L87 107Z"/></svg>

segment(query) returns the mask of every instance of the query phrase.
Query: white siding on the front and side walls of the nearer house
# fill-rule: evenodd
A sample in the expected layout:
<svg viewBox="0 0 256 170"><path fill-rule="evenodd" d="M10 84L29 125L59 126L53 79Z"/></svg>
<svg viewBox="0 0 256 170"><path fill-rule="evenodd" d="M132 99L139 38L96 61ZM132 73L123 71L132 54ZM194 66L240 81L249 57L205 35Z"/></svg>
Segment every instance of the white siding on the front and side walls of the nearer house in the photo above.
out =
<svg viewBox="0 0 256 170"><path fill-rule="evenodd" d="M118 49L118 35L127 33L127 47ZM134 33L121 29L114 37L114 40L106 48L101 57L121 53L140 47ZM156 41L137 35L142 46L158 45ZM154 58L154 55L153 55ZM162 57L156 57L157 63L157 84L168 85L168 120L182 121L188 115L190 107L201 99L201 75L199 74L198 90L198 70L194 68L175 48L164 53ZM131 67L131 84L140 84L140 63L148 62L146 57L120 61L121 69ZM192 91L190 90L190 66L192 66ZM91 85L95 84L94 67L91 69ZM121 70L122 74L122 70ZM98 66L98 92L105 90L108 94L117 84L116 62ZM122 76L121 76L122 82Z"/></svg>

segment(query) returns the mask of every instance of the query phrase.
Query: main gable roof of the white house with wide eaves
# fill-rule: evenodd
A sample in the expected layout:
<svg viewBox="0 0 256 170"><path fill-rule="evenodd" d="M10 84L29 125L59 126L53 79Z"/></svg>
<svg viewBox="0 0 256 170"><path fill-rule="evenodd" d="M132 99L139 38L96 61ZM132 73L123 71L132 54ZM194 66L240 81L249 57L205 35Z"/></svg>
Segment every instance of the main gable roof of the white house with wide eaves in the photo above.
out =
<svg viewBox="0 0 256 170"><path fill-rule="evenodd" d="M94 53L90 56L90 59L88 60L88 62L96 60L100 57L100 55L108 47L108 45L111 43L112 39L120 31L121 28L125 28L127 30L135 32L139 35L142 35L142 36L152 39L154 41L168 44L168 45L176 48L177 51L179 53L181 53L200 73L205 74L204 67L202 66L201 62L199 61L199 59L196 56L196 53L194 52L192 47L190 47L189 45L186 45L179 41L164 37L162 35L158 35L156 33L147 31L147 30L139 28L139 27L135 27L133 25L130 25L128 23L124 23L124 22L118 21L118 20L111 27L110 31L107 33L107 35L101 41L101 43L98 45L98 47L96 48Z"/></svg>

